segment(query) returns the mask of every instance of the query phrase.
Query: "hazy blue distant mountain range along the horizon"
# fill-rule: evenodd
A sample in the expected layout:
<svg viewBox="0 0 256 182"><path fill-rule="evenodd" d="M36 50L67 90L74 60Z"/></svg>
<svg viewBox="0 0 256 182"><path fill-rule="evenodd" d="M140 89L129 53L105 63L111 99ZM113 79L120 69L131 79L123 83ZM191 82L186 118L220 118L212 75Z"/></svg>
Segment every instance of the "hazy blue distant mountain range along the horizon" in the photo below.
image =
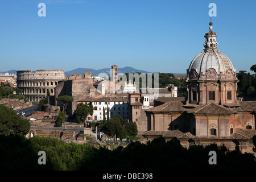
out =
<svg viewBox="0 0 256 182"><path fill-rule="evenodd" d="M91 68L77 68L77 69L73 69L71 71L67 71L65 72L66 77L71 76L72 74L81 74L84 73L86 71L90 71L92 72L92 76L98 76L100 75L100 73L106 73L109 77L110 77L110 68L103 68L103 69L91 69ZM8 73L15 73L17 75L16 70L10 70L7 71ZM1 72L0 73L6 73L5 72ZM147 72L147 71L143 71L140 69L135 69L132 67L124 67L124 68L118 68L118 73L152 73L154 74L154 72ZM172 73L174 75L185 75L184 73Z"/></svg>

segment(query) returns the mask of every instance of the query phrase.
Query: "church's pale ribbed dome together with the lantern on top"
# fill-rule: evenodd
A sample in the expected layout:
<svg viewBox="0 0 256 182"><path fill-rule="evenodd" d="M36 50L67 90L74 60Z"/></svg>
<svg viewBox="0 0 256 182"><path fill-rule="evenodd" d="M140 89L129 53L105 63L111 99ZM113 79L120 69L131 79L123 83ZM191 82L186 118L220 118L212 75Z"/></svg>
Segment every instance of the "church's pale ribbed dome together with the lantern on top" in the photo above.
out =
<svg viewBox="0 0 256 182"><path fill-rule="evenodd" d="M225 73L228 69L236 72L233 64L229 58L217 49L218 43L216 42L217 34L212 31L212 23L210 23L209 32L205 34L205 49L199 53L189 65L188 73L195 69L197 74L205 74L209 68L213 68L218 75Z"/></svg>

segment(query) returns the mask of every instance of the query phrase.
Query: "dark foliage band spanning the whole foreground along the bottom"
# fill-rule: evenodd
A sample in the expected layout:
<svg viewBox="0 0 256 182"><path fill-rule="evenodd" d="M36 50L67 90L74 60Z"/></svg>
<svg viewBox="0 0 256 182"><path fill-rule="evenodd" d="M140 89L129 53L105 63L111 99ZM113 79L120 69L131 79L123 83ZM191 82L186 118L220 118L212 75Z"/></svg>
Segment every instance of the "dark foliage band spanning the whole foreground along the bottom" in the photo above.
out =
<svg viewBox="0 0 256 182"><path fill-rule="evenodd" d="M8 149L8 150L6 150ZM38 164L38 152L46 152L46 165ZM209 151L216 151L217 164L209 164ZM173 139L157 138L143 144L132 142L113 151L90 145L64 143L46 137L26 139L0 135L0 168L5 170L84 170L84 171L170 171L170 170L255 170L253 154L229 151L225 146L191 146Z"/></svg>

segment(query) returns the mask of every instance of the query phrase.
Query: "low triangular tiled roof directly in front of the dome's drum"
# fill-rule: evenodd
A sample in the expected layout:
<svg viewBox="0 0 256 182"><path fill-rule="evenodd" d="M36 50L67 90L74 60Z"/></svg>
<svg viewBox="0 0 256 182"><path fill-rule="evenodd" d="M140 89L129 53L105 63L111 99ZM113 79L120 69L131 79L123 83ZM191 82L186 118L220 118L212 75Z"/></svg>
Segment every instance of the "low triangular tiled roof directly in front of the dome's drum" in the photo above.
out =
<svg viewBox="0 0 256 182"><path fill-rule="evenodd" d="M207 105L193 109L186 109L187 113L193 114L234 114L235 110L210 102Z"/></svg>

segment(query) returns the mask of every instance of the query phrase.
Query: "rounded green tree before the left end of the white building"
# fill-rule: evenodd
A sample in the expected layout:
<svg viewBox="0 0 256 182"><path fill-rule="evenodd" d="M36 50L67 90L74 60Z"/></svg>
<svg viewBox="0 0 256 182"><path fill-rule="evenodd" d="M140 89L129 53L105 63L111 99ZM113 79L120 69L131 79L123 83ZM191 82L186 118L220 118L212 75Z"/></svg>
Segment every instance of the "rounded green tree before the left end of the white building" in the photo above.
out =
<svg viewBox="0 0 256 182"><path fill-rule="evenodd" d="M89 106L86 104L79 103L77 104L74 115L79 123L82 122L82 119L85 119L88 114L93 115L93 106Z"/></svg>

